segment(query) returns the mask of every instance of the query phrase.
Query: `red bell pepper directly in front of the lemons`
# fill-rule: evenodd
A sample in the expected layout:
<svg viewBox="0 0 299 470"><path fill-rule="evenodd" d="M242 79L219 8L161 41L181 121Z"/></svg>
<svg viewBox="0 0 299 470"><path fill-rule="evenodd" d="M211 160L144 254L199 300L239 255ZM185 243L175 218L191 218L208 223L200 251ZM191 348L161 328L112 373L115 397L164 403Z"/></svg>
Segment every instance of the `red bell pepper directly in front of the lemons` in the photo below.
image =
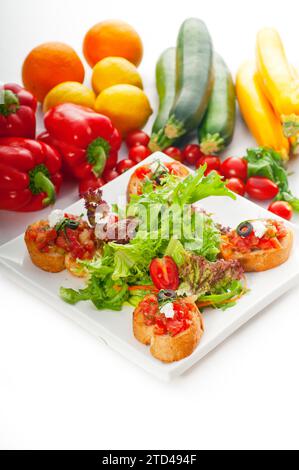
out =
<svg viewBox="0 0 299 470"><path fill-rule="evenodd" d="M47 132L38 138L57 148L65 168L79 180L98 178L105 167L115 166L121 137L108 117L64 103L51 108L44 122Z"/></svg>

